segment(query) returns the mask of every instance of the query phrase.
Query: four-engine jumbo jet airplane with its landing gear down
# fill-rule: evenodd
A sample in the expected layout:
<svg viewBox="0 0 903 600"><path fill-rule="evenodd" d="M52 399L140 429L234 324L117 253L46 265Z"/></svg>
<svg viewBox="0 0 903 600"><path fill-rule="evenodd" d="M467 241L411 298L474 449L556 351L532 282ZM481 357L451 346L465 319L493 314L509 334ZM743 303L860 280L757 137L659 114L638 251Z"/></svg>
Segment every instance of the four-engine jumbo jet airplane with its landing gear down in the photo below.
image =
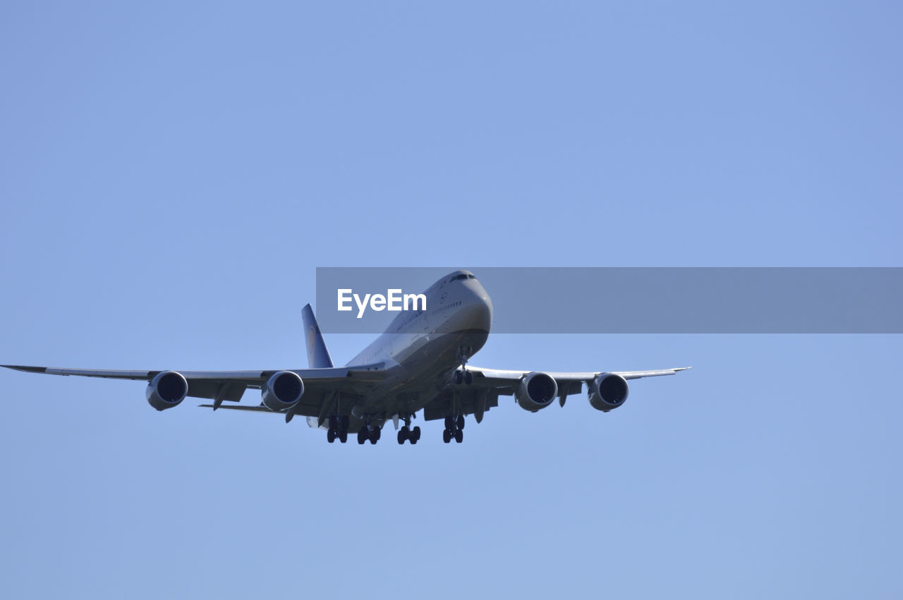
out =
<svg viewBox="0 0 903 600"><path fill-rule="evenodd" d="M465 415L477 423L498 407L498 397L514 396L524 410L536 412L557 398L582 392L592 408L608 412L628 397L628 380L672 375L690 367L653 371L558 373L488 369L469 365L489 337L492 302L474 274L454 271L426 291L424 309L405 310L385 333L345 366L332 365L311 305L302 310L308 368L268 371L103 371L43 366L0 365L29 373L79 375L148 382L147 402L157 411L178 406L186 397L212 402L201 407L295 415L326 430L326 439L344 444L357 434L358 444L376 444L386 423L397 430L398 443L416 444L418 411L424 420L444 420L442 441L463 440ZM261 402L241 405L247 388L261 392ZM224 403L224 402L229 402ZM399 429L399 422L404 425Z"/></svg>

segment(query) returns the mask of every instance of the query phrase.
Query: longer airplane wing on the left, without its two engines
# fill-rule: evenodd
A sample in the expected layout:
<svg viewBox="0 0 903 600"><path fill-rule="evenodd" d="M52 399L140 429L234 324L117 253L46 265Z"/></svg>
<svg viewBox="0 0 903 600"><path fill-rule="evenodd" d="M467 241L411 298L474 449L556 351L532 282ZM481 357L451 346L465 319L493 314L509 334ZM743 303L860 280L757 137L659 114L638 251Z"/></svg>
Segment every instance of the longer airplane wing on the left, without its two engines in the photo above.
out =
<svg viewBox="0 0 903 600"><path fill-rule="evenodd" d="M116 371L100 369L71 369L49 366L0 365L7 369L51 375L75 375L79 377L102 377L105 379L129 379L151 381L163 371ZM293 414L318 417L323 402L331 401L336 393L342 397L363 395L376 383L381 382L386 371L384 365L361 365L355 367L330 367L320 369L292 369L304 382L301 402L293 409ZM260 389L267 380L281 369L266 371L178 371L188 382L188 396L219 402L239 402L247 388ZM212 404L206 405L212 407ZM350 406L350 403L349 403ZM217 403L219 407L219 403ZM260 407L222 406L221 408L257 409ZM266 411L266 409L264 409Z"/></svg>

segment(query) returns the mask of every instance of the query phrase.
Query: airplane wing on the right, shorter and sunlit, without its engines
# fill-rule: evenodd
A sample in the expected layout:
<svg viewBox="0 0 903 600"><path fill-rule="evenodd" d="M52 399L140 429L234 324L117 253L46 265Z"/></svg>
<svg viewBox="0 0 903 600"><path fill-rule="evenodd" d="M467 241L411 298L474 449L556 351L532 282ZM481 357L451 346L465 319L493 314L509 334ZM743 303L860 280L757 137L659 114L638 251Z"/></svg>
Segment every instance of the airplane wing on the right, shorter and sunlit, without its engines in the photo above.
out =
<svg viewBox="0 0 903 600"><path fill-rule="evenodd" d="M617 374L624 379L640 379L642 377L660 377L686 371L691 367L681 366L671 369L654 369L649 371L586 371L563 372L549 371L558 386L558 399L561 405L573 394L582 392L583 383L591 383L600 374ZM432 402L424 407L424 420L443 419L449 414L473 414L477 422L483 419L483 413L498 406L498 396L513 395L520 381L530 371L512 371L502 369L486 369L479 366L465 367L470 372L472 382L452 384L440 393Z"/></svg>

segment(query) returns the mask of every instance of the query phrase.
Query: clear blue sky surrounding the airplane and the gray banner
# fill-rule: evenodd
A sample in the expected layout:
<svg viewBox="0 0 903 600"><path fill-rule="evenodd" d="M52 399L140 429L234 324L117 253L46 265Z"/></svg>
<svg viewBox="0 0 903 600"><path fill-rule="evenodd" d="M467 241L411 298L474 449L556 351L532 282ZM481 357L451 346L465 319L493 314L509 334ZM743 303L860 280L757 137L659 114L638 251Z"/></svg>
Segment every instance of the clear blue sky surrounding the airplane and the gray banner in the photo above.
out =
<svg viewBox="0 0 903 600"><path fill-rule="evenodd" d="M316 266L900 264L897 5L299 4L0 9L0 363L303 365ZM490 337L695 368L416 447L0 373L0 595L898 598L901 350Z"/></svg>

